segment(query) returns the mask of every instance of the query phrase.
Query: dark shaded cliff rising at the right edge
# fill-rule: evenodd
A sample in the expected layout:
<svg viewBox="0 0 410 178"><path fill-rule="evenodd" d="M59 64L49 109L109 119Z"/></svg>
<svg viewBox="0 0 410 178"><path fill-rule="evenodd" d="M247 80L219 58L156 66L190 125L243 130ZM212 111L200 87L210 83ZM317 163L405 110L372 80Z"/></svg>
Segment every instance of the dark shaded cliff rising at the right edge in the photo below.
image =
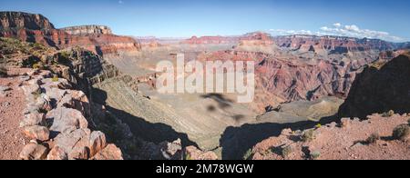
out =
<svg viewBox="0 0 410 178"><path fill-rule="evenodd" d="M402 54L386 64L365 68L354 81L339 115L365 118L368 114L390 110L399 114L409 113L409 76L409 54Z"/></svg>

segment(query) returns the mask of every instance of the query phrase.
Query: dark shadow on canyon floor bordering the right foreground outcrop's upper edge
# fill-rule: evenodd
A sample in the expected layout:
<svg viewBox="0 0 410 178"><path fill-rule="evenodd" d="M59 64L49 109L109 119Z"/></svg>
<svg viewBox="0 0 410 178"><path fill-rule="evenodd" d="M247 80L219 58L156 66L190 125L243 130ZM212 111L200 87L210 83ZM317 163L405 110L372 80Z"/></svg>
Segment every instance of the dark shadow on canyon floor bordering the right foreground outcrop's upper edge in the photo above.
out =
<svg viewBox="0 0 410 178"><path fill-rule="evenodd" d="M220 137L223 160L241 160L243 155L257 143L272 136L279 136L283 129L293 131L313 128L317 124L338 122L336 116L325 117L321 122L303 121L292 124L243 124L241 127L228 127Z"/></svg>

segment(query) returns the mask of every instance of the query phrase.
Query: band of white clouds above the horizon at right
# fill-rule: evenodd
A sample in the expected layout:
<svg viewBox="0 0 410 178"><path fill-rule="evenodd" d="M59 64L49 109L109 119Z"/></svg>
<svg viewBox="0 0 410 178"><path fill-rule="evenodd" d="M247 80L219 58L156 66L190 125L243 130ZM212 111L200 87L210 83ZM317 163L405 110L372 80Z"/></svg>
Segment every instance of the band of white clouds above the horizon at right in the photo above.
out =
<svg viewBox="0 0 410 178"><path fill-rule="evenodd" d="M387 32L361 29L358 25L342 25L340 23L333 24L333 27L323 26L317 32L312 32L309 30L283 29L271 29L270 32L272 33L272 35L337 35L355 38L381 39L393 42L405 41L404 38L395 35L390 35Z"/></svg>

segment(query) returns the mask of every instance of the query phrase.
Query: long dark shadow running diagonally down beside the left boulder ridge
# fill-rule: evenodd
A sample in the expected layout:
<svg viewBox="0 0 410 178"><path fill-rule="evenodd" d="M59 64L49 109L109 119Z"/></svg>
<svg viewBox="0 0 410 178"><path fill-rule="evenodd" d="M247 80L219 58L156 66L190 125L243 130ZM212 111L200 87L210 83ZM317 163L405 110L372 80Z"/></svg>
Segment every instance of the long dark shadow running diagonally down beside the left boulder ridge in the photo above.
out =
<svg viewBox="0 0 410 178"><path fill-rule="evenodd" d="M198 147L197 143L192 142L188 134L182 134L176 132L171 126L167 124L152 124L145 119L128 114L125 111L113 108L106 103L108 94L100 89L92 88L93 102L97 104L103 104L106 109L122 120L125 124L128 124L132 134L138 138L147 142L161 143L161 142L173 142L177 139L181 140L182 146L194 145Z"/></svg>

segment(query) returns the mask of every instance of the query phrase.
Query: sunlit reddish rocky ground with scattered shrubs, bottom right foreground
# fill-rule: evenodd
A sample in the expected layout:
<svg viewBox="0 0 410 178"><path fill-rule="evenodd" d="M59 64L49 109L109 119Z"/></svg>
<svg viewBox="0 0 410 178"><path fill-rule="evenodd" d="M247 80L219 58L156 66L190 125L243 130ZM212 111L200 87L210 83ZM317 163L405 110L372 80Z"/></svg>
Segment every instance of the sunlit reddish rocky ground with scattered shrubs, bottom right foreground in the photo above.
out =
<svg viewBox="0 0 410 178"><path fill-rule="evenodd" d="M285 129L255 145L247 154L253 160L405 160L409 142L393 136L398 125L407 125L409 114L388 118L379 114L342 119L341 124L317 125L305 131ZM407 126L408 127L408 126ZM408 136L403 140L410 139Z"/></svg>

